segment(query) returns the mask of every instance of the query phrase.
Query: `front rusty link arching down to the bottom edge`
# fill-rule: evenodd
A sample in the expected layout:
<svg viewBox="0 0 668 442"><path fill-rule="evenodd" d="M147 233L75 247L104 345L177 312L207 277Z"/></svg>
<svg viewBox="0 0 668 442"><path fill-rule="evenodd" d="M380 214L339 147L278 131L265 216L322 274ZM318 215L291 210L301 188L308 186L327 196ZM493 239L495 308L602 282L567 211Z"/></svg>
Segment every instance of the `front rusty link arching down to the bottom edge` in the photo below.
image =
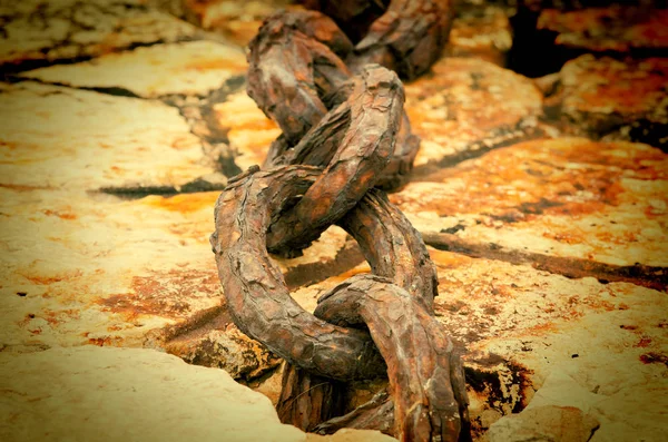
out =
<svg viewBox="0 0 668 442"><path fill-rule="evenodd" d="M323 295L314 314L369 327L387 363L400 441L458 440L469 422L463 371L452 364L452 342L421 303L390 279L357 275Z"/></svg>

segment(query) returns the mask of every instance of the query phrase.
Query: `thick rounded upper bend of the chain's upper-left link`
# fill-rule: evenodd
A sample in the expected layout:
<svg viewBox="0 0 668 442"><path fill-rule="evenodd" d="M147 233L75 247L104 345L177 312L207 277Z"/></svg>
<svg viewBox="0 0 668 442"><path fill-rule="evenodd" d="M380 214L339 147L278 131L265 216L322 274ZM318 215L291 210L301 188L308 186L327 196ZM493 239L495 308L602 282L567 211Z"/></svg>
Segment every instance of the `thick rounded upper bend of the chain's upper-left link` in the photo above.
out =
<svg viewBox="0 0 668 442"><path fill-rule="evenodd" d="M248 45L248 95L295 145L327 112L322 96L350 78L352 49L327 17L313 11L269 17Z"/></svg>

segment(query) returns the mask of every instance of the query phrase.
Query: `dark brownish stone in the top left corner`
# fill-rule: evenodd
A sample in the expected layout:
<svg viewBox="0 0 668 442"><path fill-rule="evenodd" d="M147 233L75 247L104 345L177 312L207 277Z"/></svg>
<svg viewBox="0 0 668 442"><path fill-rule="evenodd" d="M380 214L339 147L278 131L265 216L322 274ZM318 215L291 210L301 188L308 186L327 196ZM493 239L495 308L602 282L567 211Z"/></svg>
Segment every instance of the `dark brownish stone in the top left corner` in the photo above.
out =
<svg viewBox="0 0 668 442"><path fill-rule="evenodd" d="M4 2L0 17L0 65L13 69L187 40L199 32L140 0Z"/></svg>

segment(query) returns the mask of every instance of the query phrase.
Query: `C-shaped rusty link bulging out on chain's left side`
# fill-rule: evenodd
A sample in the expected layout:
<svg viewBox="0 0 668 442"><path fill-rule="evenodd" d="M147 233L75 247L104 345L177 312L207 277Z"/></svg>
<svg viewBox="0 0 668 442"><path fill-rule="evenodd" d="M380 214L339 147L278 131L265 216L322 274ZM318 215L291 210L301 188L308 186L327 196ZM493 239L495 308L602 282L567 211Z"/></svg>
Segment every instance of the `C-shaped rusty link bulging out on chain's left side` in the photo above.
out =
<svg viewBox="0 0 668 442"><path fill-rule="evenodd" d="M340 380L382 374L385 364L364 332L336 327L291 296L266 249L273 214L313 185L321 171L286 166L238 176L220 194L210 242L235 324L286 361Z"/></svg>

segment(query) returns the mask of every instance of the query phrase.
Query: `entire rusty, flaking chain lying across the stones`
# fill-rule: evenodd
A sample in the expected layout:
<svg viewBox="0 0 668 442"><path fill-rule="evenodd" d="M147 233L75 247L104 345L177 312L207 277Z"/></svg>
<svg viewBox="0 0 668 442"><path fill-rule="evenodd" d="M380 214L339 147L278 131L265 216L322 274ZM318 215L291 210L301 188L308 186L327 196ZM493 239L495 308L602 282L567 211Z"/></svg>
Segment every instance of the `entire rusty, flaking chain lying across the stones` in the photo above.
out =
<svg viewBox="0 0 668 442"><path fill-rule="evenodd" d="M283 134L263 170L232 178L216 203L212 246L228 310L288 363L283 422L470 440L463 366L433 316L435 266L381 190L406 180L420 144L397 73L414 78L440 57L451 1L306 3L358 41L321 12L296 11L269 17L249 45L248 95ZM311 314L269 252L298 254L333 224L358 243L373 275L345 281ZM346 414L346 382L384 374L387 390Z"/></svg>

